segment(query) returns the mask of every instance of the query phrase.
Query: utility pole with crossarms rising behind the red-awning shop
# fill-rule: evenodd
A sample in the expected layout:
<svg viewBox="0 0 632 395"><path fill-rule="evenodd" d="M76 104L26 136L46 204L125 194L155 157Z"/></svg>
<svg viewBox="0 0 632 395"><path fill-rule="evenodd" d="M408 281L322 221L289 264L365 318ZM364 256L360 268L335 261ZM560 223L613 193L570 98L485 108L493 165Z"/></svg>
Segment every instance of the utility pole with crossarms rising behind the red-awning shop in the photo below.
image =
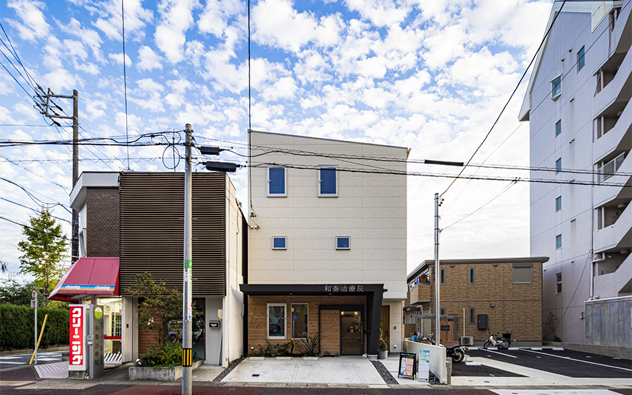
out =
<svg viewBox="0 0 632 395"><path fill-rule="evenodd" d="M72 119L72 188L77 184L77 180L79 179L79 92L77 89L72 91L72 96L67 95L55 95L50 91L50 88L45 92L41 86L38 85L38 88L42 92L40 95L39 92L35 92L35 107L40 110L40 114L44 115L47 118L52 120L53 124L57 126L60 125L59 122L55 120L55 118L59 118L62 120L70 120ZM57 105L52 98L66 98L72 99L72 117L67 115L60 115L55 111L55 109L60 110L60 112L64 112L62 108ZM72 209L72 241L71 241L71 264L77 261L79 258L79 211Z"/></svg>

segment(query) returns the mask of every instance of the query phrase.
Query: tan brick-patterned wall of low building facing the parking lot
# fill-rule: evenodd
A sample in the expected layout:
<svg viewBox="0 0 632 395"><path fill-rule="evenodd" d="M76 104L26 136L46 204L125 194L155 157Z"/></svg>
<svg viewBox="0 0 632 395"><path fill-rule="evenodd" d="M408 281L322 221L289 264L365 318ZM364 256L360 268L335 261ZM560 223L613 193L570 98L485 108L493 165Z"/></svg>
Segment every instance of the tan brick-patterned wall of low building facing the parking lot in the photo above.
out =
<svg viewBox="0 0 632 395"><path fill-rule="evenodd" d="M441 265L446 269L446 285L441 285L439 290L441 307L446 308L446 314L458 316L457 340L463 336L465 309L465 336L473 336L474 340L485 340L492 331L512 331L512 340L541 341L542 264L534 262L533 265L533 284L513 284L512 263L457 264L453 268ZM475 268L473 285L469 285L469 268ZM432 297L434 299L434 292ZM434 302L430 306L434 314ZM473 325L469 324L470 307L475 308ZM478 314L487 314L489 331L478 329ZM431 331L434 332L434 328Z"/></svg>

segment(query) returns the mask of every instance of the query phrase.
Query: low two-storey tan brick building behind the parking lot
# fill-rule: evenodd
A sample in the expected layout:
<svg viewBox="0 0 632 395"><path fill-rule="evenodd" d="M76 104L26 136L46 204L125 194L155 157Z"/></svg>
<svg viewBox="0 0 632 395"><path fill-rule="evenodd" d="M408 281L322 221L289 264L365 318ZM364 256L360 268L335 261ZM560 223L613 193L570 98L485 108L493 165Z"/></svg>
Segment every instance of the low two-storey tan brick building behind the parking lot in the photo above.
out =
<svg viewBox="0 0 632 395"><path fill-rule="evenodd" d="M517 345L541 345L542 265L547 257L439 261L440 340L483 345L490 332ZM436 338L434 260L407 276L407 326Z"/></svg>

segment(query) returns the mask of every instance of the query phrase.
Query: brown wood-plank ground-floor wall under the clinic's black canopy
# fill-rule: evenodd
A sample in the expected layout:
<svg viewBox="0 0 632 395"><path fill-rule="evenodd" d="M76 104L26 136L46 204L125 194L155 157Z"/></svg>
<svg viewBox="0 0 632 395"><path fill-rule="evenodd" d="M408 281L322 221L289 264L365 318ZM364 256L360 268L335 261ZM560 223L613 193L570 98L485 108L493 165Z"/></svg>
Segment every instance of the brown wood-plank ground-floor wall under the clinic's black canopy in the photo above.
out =
<svg viewBox="0 0 632 395"><path fill-rule="evenodd" d="M286 340L267 339L267 304L285 303L286 306ZM364 325L366 328L366 297L363 296L250 296L248 297L248 349L265 347L266 342L287 343L291 339L291 304L307 303L308 306L308 330L309 336L315 336L318 332L318 308L323 306L365 306ZM340 318L337 310L323 310L320 316L321 350L327 353L339 353L340 351ZM365 342L366 347L366 342Z"/></svg>

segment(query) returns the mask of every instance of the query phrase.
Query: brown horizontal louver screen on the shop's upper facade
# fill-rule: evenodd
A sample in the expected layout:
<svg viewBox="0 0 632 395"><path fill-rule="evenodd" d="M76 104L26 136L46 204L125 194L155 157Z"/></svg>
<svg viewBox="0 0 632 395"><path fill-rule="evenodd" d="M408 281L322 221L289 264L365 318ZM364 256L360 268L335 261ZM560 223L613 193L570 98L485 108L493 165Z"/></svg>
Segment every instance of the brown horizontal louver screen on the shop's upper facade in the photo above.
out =
<svg viewBox="0 0 632 395"><path fill-rule="evenodd" d="M223 173L193 173L193 297L226 293ZM123 173L120 178L120 294L137 273L182 292L184 174Z"/></svg>

